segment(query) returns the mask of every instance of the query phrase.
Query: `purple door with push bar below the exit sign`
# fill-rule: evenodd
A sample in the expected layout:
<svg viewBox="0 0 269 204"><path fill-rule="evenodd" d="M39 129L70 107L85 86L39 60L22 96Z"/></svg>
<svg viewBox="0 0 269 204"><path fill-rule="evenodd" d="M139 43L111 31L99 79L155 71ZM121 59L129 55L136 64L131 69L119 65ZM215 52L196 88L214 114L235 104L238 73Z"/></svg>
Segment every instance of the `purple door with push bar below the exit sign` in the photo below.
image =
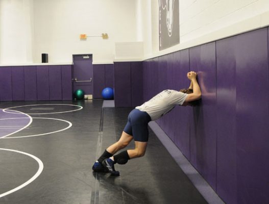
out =
<svg viewBox="0 0 269 204"><path fill-rule="evenodd" d="M73 55L73 90L92 94L92 55Z"/></svg>

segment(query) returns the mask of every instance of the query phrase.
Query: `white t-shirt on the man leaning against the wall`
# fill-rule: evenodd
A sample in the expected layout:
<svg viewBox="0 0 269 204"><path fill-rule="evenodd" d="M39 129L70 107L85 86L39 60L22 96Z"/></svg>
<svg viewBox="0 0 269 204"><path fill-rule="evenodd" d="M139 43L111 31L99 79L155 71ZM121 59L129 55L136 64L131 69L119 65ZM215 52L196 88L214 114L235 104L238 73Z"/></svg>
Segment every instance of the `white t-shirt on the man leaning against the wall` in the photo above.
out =
<svg viewBox="0 0 269 204"><path fill-rule="evenodd" d="M157 120L172 110L176 105L182 105L186 97L186 93L175 90L164 90L141 106L135 108L147 112L152 120Z"/></svg>

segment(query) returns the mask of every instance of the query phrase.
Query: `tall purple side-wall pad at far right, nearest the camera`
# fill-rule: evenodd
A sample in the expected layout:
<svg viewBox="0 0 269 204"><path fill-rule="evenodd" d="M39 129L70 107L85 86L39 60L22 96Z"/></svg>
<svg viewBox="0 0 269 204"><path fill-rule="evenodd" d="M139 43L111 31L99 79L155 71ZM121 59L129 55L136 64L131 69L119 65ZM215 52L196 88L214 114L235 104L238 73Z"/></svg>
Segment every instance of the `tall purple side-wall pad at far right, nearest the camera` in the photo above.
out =
<svg viewBox="0 0 269 204"><path fill-rule="evenodd" d="M269 203L267 40L267 28L236 38L238 203Z"/></svg>

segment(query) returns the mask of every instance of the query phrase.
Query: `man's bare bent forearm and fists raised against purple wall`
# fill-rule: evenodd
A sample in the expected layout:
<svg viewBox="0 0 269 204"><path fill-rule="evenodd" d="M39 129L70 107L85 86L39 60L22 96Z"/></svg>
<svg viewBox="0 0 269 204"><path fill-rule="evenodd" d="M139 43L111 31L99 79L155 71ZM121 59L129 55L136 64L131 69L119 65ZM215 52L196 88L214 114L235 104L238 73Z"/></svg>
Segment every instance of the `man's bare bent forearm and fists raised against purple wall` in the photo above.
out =
<svg viewBox="0 0 269 204"><path fill-rule="evenodd" d="M190 71L187 73L187 78L191 82L193 93L188 94L187 98L185 99L184 102L199 100L202 96L202 93L201 93L200 86L199 86L197 79L196 79L197 73L195 73L194 71Z"/></svg>

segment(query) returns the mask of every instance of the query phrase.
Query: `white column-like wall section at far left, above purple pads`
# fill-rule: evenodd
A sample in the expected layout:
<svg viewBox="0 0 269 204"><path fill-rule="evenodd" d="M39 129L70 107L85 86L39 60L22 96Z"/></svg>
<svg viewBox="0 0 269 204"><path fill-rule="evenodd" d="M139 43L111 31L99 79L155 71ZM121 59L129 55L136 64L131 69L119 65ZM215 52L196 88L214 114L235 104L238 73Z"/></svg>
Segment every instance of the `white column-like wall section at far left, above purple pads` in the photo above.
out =
<svg viewBox="0 0 269 204"><path fill-rule="evenodd" d="M0 1L0 64L32 63L33 0Z"/></svg>

